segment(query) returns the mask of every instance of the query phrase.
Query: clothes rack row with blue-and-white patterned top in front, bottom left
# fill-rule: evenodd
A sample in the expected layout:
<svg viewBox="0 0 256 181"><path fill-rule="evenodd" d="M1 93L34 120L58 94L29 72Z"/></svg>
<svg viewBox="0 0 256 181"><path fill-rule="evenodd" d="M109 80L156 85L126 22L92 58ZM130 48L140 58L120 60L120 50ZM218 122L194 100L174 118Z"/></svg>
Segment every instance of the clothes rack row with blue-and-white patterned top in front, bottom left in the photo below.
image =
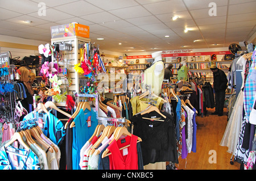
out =
<svg viewBox="0 0 256 181"><path fill-rule="evenodd" d="M0 150L1 170L58 170L60 149L38 127L37 119L16 124Z"/></svg>

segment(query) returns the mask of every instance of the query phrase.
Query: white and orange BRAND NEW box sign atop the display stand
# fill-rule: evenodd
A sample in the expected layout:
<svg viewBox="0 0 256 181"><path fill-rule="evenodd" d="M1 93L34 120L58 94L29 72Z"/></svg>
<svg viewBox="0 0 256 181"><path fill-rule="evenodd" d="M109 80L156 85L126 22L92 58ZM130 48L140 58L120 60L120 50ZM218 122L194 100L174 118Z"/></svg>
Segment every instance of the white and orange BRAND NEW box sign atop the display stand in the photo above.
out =
<svg viewBox="0 0 256 181"><path fill-rule="evenodd" d="M69 23L51 27L52 39L57 37L81 36L89 38L90 27L78 23Z"/></svg>

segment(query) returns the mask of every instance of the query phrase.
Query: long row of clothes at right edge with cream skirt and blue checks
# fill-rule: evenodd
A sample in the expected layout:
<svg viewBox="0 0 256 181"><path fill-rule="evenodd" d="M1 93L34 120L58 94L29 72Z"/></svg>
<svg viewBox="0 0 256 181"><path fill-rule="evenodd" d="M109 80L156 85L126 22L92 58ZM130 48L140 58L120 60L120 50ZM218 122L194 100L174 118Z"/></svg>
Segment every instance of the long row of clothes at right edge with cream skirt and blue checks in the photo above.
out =
<svg viewBox="0 0 256 181"><path fill-rule="evenodd" d="M237 89L238 96L236 96L229 122L220 143L221 146L228 146L228 151L232 153L232 157L234 156L234 161L240 163L241 168L244 169L255 169L255 161L253 161L254 150L256 149L254 148L255 118L250 119L256 98L255 53L256 50L254 49L254 52L243 54L238 57L236 62L233 62L237 64L233 66L239 65L242 70L241 89Z"/></svg>

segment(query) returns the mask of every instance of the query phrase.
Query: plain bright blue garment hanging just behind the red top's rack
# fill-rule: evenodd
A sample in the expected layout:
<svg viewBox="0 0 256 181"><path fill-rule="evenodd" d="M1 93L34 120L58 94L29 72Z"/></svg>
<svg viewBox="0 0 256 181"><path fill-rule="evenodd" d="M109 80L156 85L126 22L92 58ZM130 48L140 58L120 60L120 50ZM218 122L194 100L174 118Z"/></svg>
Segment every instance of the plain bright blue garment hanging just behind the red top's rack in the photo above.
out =
<svg viewBox="0 0 256 181"><path fill-rule="evenodd" d="M91 120L91 126L88 127L88 117ZM73 120L75 121L75 127L73 127L73 144L72 144L72 167L73 170L80 170L80 150L82 146L92 137L97 125L96 112L86 109L80 110L79 114Z"/></svg>

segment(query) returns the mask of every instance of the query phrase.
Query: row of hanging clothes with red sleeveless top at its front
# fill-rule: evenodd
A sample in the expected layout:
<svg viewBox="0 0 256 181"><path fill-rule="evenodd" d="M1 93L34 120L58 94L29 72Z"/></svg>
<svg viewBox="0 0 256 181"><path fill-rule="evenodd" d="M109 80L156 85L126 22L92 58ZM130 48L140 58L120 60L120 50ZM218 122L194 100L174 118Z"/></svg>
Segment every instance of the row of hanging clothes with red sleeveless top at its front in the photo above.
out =
<svg viewBox="0 0 256 181"><path fill-rule="evenodd" d="M101 123L80 151L81 170L142 170L141 138L123 125L126 119ZM118 127L114 122L118 122Z"/></svg>

